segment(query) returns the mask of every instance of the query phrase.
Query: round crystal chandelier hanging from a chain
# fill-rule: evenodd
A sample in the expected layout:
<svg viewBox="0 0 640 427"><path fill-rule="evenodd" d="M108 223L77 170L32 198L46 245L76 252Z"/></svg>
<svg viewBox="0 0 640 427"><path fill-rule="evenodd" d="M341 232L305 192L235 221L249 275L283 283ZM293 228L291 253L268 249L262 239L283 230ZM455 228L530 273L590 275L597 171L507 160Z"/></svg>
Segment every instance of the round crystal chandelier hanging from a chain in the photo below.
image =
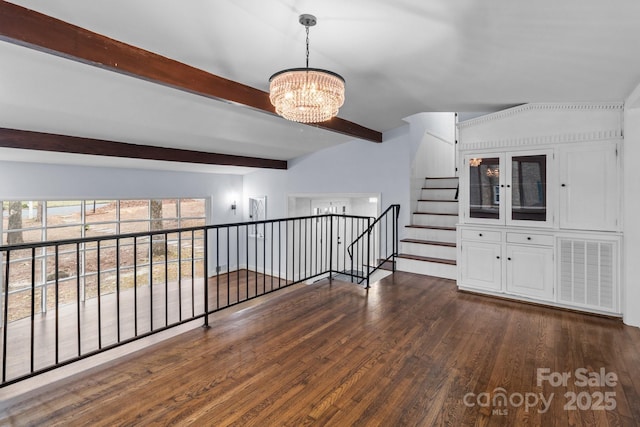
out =
<svg viewBox="0 0 640 427"><path fill-rule="evenodd" d="M344 104L344 79L339 74L309 68L309 27L316 25L313 15L300 15L307 32L307 66L289 68L269 78L269 99L276 113L287 120L319 123L338 114Z"/></svg>

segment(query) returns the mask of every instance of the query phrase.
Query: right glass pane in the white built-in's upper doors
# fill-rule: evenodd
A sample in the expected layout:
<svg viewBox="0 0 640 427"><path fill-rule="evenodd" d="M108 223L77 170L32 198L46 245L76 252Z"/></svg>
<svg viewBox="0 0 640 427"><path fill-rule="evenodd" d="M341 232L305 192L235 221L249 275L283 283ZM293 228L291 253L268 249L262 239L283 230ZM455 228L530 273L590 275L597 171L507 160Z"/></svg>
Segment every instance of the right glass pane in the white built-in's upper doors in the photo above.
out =
<svg viewBox="0 0 640 427"><path fill-rule="evenodd" d="M511 156L511 220L547 221L547 156Z"/></svg>

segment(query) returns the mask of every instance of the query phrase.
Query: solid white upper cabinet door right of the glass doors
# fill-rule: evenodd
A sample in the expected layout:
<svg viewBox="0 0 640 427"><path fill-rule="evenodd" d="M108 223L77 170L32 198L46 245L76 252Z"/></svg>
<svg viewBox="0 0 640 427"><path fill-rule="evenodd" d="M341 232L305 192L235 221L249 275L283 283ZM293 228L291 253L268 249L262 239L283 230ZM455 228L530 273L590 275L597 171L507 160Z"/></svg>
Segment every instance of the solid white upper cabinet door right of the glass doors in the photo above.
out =
<svg viewBox="0 0 640 427"><path fill-rule="evenodd" d="M558 150L560 228L616 231L620 228L618 144L575 144Z"/></svg>

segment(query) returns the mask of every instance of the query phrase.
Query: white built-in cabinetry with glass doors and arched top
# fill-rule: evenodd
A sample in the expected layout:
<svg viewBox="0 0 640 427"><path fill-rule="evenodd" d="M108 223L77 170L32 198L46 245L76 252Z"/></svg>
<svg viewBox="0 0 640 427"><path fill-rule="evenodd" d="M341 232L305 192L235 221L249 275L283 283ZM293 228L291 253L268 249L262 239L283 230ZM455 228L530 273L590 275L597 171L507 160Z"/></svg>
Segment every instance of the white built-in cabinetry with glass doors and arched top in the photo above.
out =
<svg viewBox="0 0 640 427"><path fill-rule="evenodd" d="M459 124L458 287L620 315L622 105Z"/></svg>

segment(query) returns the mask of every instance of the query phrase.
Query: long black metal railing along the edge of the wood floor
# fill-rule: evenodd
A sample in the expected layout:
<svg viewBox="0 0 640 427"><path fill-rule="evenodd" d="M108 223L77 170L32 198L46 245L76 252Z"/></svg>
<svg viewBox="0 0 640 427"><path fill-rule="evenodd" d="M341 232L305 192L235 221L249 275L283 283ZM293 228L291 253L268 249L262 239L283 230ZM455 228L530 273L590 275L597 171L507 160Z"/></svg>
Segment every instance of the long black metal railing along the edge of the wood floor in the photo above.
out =
<svg viewBox="0 0 640 427"><path fill-rule="evenodd" d="M295 283L369 286L398 208L391 231L387 210L0 246L0 387Z"/></svg>

